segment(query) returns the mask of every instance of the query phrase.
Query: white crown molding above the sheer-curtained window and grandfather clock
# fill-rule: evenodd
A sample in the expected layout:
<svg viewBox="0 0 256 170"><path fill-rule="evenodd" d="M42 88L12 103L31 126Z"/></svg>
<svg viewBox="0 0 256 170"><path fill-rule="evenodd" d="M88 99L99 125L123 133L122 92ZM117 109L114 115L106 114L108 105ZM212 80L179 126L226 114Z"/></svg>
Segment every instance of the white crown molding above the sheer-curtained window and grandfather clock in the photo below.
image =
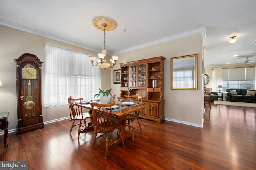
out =
<svg viewBox="0 0 256 170"><path fill-rule="evenodd" d="M58 37L56 35L45 33L45 32L39 31L37 29L32 29L32 28L29 28L29 27L25 27L23 25L19 25L17 23L13 23L13 22L6 21L6 20L3 20L3 19L0 19L0 25L4 25L4 26L7 26L7 27L12 27L12 28L15 28L15 29L19 29L21 31L25 31L25 32L28 32L28 33L40 35L42 37L54 39L54 40L57 40L57 41L61 41L63 43L68 43L70 45L75 45L75 46L86 48L86 49L89 49L89 50L92 50L92 51L97 51L97 52L101 51L101 49L96 49L96 48L93 48L93 47L90 47L90 46L87 46L87 45L84 45L84 44L81 44L81 43L77 43L75 41L70 41L68 39Z"/></svg>

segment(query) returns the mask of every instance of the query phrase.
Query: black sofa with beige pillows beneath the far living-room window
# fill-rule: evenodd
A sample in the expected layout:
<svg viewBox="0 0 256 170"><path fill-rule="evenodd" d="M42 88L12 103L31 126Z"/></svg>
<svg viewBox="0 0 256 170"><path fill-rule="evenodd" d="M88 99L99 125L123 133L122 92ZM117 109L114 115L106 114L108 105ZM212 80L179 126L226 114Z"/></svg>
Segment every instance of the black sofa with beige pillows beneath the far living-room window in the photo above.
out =
<svg viewBox="0 0 256 170"><path fill-rule="evenodd" d="M255 89L226 89L226 101L255 103Z"/></svg>

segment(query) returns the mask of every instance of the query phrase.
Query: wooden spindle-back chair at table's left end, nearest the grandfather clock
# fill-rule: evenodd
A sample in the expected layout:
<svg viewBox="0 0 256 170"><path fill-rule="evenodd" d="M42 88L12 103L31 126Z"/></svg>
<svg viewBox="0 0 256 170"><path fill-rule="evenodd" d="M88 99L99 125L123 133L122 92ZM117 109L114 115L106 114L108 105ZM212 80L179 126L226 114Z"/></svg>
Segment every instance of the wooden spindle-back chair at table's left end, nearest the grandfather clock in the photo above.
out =
<svg viewBox="0 0 256 170"><path fill-rule="evenodd" d="M79 140L80 136L80 131L81 131L81 126L84 127L85 129L90 128L92 126L87 125L86 126L86 119L91 119L92 115L87 113L83 113L82 111L82 100L83 98L78 98L78 99L73 99L71 96L68 98L68 104L69 104L69 113L70 113L70 121L73 121L70 132L71 133L72 129L74 126L78 126L78 137L77 139ZM77 124L75 124L75 121L78 121Z"/></svg>

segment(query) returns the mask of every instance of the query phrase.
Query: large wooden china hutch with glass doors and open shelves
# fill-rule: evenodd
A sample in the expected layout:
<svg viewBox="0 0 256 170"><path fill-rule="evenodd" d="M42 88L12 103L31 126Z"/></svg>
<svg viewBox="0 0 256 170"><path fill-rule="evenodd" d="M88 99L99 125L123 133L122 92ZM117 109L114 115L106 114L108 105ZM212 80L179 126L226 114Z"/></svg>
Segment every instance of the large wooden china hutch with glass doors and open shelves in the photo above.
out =
<svg viewBox="0 0 256 170"><path fill-rule="evenodd" d="M164 120L164 60L153 57L121 63L121 87L118 100L125 101L124 95L143 97L140 117L160 123Z"/></svg>

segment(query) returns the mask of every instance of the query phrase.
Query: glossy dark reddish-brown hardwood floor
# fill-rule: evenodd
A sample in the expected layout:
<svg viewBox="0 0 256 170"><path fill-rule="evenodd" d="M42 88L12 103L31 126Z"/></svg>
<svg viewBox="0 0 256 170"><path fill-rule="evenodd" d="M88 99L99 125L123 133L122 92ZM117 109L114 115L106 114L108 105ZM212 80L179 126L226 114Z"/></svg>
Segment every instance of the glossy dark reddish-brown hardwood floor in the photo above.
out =
<svg viewBox="0 0 256 170"><path fill-rule="evenodd" d="M122 144L108 151L104 139L90 145L93 131L69 135L68 120L48 124L44 129L9 134L10 147L0 149L1 160L27 160L29 170L255 170L255 108L206 106L204 128L140 119L140 129ZM75 128L75 127L74 127ZM116 134L116 133L115 133ZM0 143L3 145L3 136Z"/></svg>

